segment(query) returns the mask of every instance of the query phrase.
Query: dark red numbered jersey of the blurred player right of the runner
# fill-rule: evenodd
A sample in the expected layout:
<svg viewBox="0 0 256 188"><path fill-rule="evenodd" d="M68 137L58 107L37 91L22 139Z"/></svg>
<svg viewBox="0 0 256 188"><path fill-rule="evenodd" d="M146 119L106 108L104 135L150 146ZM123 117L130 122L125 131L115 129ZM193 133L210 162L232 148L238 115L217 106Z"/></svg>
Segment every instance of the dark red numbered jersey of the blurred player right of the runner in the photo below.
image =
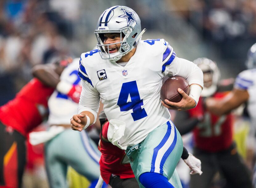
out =
<svg viewBox="0 0 256 188"><path fill-rule="evenodd" d="M216 93L214 98L222 98L225 93ZM188 110L190 116L204 116L203 122L193 130L195 145L208 152L227 149L232 143L233 117L231 114L216 116L204 109L202 98L196 108Z"/></svg>

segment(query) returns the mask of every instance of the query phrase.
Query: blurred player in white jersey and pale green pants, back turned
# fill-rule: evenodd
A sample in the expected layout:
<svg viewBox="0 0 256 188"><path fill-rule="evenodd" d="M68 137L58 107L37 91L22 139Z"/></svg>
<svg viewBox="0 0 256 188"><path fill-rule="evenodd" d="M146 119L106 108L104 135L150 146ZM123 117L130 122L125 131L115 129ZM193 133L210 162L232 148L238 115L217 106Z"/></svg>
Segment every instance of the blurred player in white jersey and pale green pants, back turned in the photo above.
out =
<svg viewBox="0 0 256 188"><path fill-rule="evenodd" d="M97 145L86 131L72 131L70 126L70 117L77 111L81 94L78 66L79 58L76 58L64 69L56 90L48 100L47 124L50 128L47 131L30 133L31 144L46 142L45 165L52 188L68 187L66 180L68 166L92 182L90 187L95 187L100 175L100 152ZM41 71L43 72L44 69Z"/></svg>

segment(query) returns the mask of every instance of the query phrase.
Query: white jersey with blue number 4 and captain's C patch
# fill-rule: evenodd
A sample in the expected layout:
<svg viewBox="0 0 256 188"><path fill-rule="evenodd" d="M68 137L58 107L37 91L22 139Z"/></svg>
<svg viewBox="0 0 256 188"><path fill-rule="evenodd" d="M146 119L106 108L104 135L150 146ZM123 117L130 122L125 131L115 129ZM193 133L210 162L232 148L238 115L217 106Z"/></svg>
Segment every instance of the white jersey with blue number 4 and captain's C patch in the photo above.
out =
<svg viewBox="0 0 256 188"><path fill-rule="evenodd" d="M97 114L101 98L108 120L126 123L119 144L133 146L170 120L169 111L161 104L160 89L164 76L176 75L187 79L189 84L203 86L200 68L176 57L164 39L140 41L124 67L101 59L98 50L83 53L79 66L83 89L78 113L90 108Z"/></svg>

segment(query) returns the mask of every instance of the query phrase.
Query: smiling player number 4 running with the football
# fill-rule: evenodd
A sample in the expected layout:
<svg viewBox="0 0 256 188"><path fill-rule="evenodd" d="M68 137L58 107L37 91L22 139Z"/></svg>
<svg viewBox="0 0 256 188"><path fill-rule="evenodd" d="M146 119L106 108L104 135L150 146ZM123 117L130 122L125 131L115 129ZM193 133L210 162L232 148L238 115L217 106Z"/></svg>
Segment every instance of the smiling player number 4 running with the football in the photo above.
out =
<svg viewBox="0 0 256 188"><path fill-rule="evenodd" d="M194 63L178 58L164 39L141 40L146 29L141 31L138 14L129 7L106 9L97 26L98 49L80 58L82 93L72 129L82 131L96 121L101 98L109 125L113 122L108 140L126 150L137 181L144 187L173 187L168 179L183 143L167 108L194 108L203 73ZM183 96L179 103L161 102L164 76L184 77L190 95L178 89Z"/></svg>

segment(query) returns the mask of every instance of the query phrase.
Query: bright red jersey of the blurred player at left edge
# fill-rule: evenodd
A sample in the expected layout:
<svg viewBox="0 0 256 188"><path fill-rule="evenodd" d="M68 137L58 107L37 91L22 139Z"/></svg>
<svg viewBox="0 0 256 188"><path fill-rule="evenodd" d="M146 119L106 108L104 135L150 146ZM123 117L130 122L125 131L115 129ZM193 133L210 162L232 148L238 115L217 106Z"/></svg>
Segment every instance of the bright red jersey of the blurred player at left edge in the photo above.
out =
<svg viewBox="0 0 256 188"><path fill-rule="evenodd" d="M13 100L0 107L0 121L26 136L47 117L47 101L53 91L54 88L32 79Z"/></svg>

